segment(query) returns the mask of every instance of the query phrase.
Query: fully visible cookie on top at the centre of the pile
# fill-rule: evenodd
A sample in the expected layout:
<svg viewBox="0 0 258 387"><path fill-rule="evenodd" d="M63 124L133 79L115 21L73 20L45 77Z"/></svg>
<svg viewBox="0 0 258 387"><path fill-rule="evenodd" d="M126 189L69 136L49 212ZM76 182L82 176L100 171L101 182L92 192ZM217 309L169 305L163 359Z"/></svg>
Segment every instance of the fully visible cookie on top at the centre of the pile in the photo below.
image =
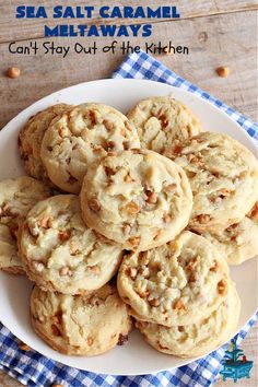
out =
<svg viewBox="0 0 258 387"><path fill-rule="evenodd" d="M134 250L172 241L186 227L192 206L184 171L148 150L103 157L89 168L80 197L89 227Z"/></svg>

